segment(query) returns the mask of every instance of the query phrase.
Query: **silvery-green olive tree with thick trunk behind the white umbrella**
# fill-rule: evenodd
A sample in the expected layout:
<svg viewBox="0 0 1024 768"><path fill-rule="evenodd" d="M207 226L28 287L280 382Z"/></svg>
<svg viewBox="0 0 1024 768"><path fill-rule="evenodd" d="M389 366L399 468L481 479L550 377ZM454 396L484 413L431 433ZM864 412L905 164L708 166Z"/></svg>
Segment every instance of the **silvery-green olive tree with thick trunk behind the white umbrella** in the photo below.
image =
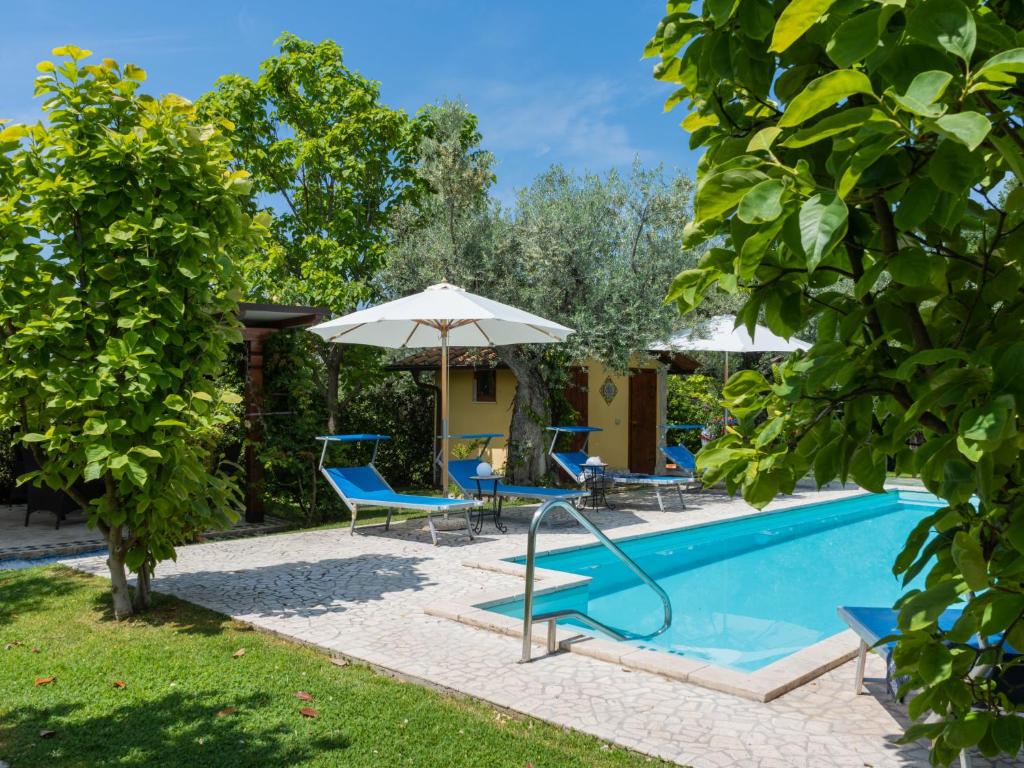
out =
<svg viewBox="0 0 1024 768"><path fill-rule="evenodd" d="M418 172L429 191L395 217L384 281L410 292L447 280L575 330L564 344L496 347L517 382L509 470L536 482L547 472L550 394L568 365L627 370L669 336L676 313L664 285L693 263L679 248L691 184L639 165L603 177L554 167L506 211L490 197L493 158L465 106L440 104L423 119Z"/></svg>

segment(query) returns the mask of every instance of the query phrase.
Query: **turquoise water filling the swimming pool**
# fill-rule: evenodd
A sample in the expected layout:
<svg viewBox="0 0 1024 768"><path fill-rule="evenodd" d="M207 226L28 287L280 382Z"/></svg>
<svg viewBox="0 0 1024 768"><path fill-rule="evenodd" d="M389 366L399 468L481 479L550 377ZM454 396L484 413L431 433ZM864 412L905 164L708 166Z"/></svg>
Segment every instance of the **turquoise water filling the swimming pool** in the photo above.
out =
<svg viewBox="0 0 1024 768"><path fill-rule="evenodd" d="M892 605L903 592L892 574L896 555L918 520L941 506L930 494L891 492L620 543L673 610L668 632L628 642L741 672L771 664L842 631L839 605ZM541 555L537 564L592 581L537 596L535 613L573 607L638 635L662 625L657 596L600 545ZM487 608L522 617L522 600Z"/></svg>

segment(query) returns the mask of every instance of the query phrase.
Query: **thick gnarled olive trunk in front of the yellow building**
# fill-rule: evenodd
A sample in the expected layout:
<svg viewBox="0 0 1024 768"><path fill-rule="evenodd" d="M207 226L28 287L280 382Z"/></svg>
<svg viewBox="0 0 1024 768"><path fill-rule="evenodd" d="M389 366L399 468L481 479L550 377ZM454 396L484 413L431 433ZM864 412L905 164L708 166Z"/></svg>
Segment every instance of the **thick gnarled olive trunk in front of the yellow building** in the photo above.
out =
<svg viewBox="0 0 1024 768"><path fill-rule="evenodd" d="M536 357L521 355L511 348L499 349L502 360L516 378L509 425L509 466L505 472L512 482L537 484L548 470L545 431L551 421L548 385Z"/></svg>

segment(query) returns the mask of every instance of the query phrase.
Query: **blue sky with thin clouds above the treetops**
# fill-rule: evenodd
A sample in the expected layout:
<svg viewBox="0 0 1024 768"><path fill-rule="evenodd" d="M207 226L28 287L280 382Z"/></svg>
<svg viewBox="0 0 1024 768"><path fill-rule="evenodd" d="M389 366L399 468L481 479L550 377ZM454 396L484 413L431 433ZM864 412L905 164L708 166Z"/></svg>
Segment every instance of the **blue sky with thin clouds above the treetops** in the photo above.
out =
<svg viewBox="0 0 1024 768"><path fill-rule="evenodd" d="M150 92L195 98L220 75L255 76L288 30L337 41L392 106L465 100L498 158L506 202L553 163L603 172L639 156L692 173L683 115L663 113L669 88L640 58L664 9L664 0L11 3L0 32L0 117L38 119L35 66L57 45L136 63Z"/></svg>

